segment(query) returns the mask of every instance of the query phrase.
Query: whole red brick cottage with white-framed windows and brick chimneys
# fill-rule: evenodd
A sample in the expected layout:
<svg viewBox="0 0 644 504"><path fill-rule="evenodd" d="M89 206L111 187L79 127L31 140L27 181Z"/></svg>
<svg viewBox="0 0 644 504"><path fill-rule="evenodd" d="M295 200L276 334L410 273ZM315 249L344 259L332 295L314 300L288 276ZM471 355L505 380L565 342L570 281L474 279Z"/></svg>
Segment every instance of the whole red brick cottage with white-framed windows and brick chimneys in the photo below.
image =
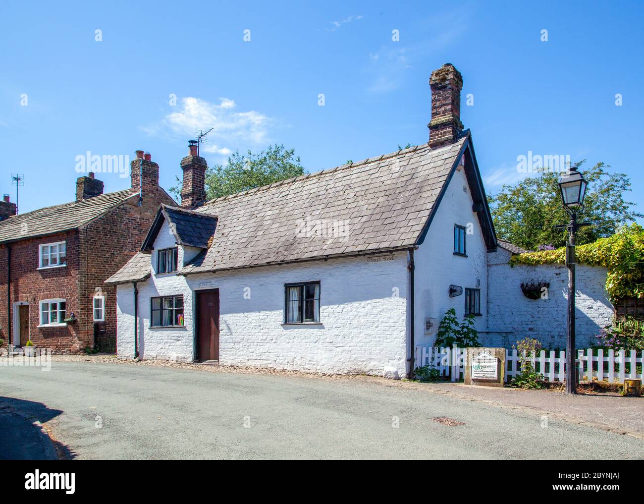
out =
<svg viewBox="0 0 644 504"><path fill-rule="evenodd" d="M116 292L104 284L141 246L160 204L158 164L137 151L131 187L103 194L94 173L79 177L73 202L15 215L0 203L0 338L21 346L77 353L109 345Z"/></svg>

